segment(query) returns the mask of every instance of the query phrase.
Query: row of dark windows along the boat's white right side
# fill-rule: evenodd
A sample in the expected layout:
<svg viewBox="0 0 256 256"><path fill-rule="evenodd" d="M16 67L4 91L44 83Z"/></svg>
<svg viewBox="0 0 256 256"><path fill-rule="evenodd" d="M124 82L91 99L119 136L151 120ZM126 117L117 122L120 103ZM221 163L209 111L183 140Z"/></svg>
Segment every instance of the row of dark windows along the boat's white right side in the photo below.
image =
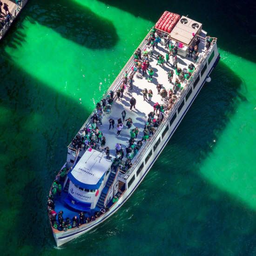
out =
<svg viewBox="0 0 256 256"><path fill-rule="evenodd" d="M208 64L212 61L213 57L214 57L214 51L212 52L212 54L210 55L210 57L208 59ZM204 74L206 68L207 68L207 64L205 64L204 67L201 70L201 77ZM197 78L195 79L194 84L193 84L193 88L196 87L196 85L198 84L199 80L200 80L200 75L198 75ZM188 101L189 96L191 95L191 93L192 93L192 87L189 89L189 91L188 91L188 93L186 95L186 101ZM183 106L184 106L184 101L182 101L181 105L178 108L178 114L182 110ZM176 117L177 117L177 113L175 112L175 114L173 115L173 117L170 120L170 126L175 121ZM166 133L168 132L168 129L169 129L169 126L167 125L166 128L162 132L162 139L163 139L164 135L166 135ZM156 148L158 147L158 145L160 144L160 142L161 142L161 138L159 137L158 140L155 142L155 145L153 146L154 152L155 152ZM148 160L149 160L149 158L151 157L152 154L153 154L153 152L152 152L152 150L150 150L150 152L148 153L148 155L145 158L145 164L148 162ZM136 172L136 176L138 176L140 174L140 172L143 169L143 167L144 167L144 162L142 162L141 166L138 168L138 170ZM135 175L133 175L132 178L130 179L130 181L128 182L128 188L134 182L134 180L135 180Z"/></svg>

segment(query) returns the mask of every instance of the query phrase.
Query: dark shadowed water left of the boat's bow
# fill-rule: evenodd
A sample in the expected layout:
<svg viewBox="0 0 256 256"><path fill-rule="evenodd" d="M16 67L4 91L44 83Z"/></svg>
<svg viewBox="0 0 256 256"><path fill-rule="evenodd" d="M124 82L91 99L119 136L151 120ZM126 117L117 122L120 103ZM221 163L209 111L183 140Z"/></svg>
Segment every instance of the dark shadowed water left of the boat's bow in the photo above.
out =
<svg viewBox="0 0 256 256"><path fill-rule="evenodd" d="M20 255L28 255L54 244L48 190L66 161L67 144L90 113L13 66L4 53L0 64L10 67L0 87L0 239L9 255L26 246Z"/></svg>

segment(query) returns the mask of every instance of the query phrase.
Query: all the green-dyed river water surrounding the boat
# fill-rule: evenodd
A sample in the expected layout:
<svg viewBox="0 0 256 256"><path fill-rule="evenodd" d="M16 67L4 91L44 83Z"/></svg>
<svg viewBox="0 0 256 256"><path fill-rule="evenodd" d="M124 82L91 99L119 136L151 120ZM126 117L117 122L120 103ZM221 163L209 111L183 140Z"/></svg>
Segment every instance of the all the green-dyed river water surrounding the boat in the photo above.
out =
<svg viewBox="0 0 256 256"><path fill-rule="evenodd" d="M28 2L0 43L4 255L256 255L255 4L193 7ZM46 202L67 144L165 10L189 14L219 38L212 81L128 202L57 249Z"/></svg>

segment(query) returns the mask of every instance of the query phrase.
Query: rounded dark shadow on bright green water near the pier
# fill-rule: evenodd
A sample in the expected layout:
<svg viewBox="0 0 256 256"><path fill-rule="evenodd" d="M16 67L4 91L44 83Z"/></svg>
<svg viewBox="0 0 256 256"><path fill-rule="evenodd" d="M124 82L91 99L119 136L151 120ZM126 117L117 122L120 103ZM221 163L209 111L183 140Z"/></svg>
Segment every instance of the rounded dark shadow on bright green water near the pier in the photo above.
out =
<svg viewBox="0 0 256 256"><path fill-rule="evenodd" d="M92 49L111 48L118 41L116 29L110 20L102 18L74 1L29 1L26 10L18 17L21 22L16 22L11 30L24 26L22 21L27 19L31 23L38 22L61 34L62 37ZM18 44L19 41L26 40L25 34L18 34L16 29L11 36ZM16 47L15 42L11 43L11 46Z"/></svg>

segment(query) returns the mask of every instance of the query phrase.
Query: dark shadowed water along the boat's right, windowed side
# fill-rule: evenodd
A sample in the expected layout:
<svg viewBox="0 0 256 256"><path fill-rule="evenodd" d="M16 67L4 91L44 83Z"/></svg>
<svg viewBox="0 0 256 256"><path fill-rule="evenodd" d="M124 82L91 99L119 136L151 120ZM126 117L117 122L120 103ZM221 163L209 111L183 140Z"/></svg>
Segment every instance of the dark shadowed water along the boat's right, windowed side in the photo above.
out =
<svg viewBox="0 0 256 256"><path fill-rule="evenodd" d="M67 253L86 244L88 255L111 255L114 243L124 255L255 255L255 211L199 174L213 139L246 100L229 67L220 63L212 78L132 198L94 233L64 245Z"/></svg>

